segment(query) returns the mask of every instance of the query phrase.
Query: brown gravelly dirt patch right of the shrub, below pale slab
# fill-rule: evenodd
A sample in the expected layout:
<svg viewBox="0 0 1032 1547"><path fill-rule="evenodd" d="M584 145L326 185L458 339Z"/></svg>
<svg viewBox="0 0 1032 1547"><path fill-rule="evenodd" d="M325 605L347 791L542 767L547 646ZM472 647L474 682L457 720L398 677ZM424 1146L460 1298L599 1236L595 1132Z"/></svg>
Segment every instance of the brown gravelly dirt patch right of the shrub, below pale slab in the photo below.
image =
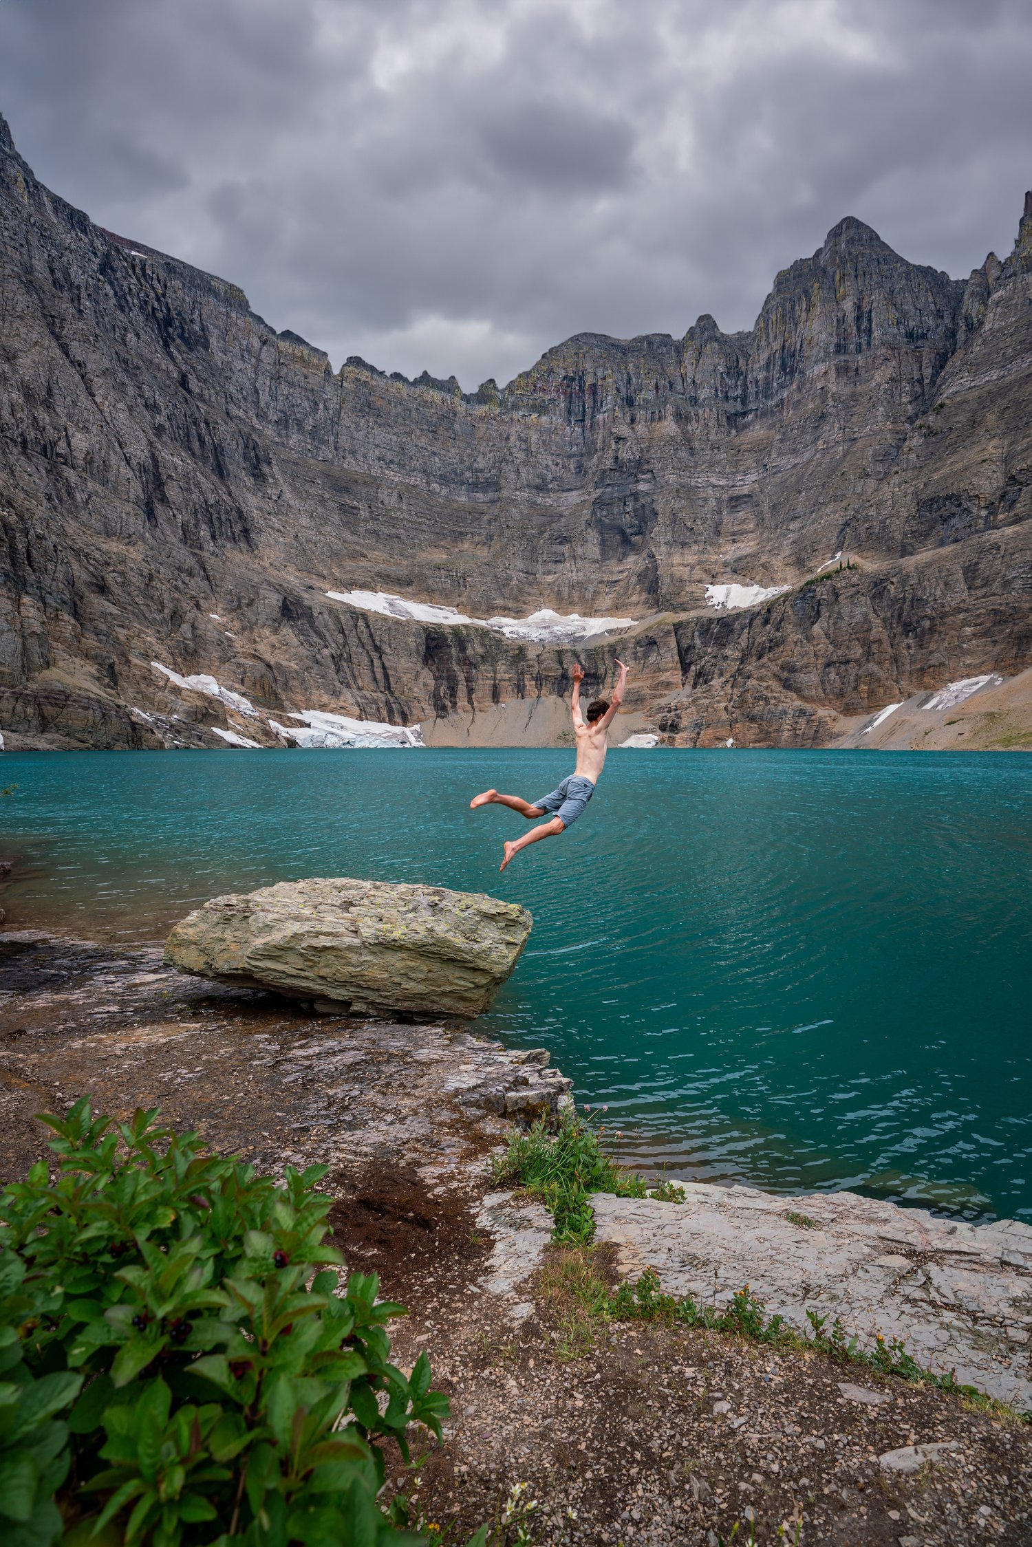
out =
<svg viewBox="0 0 1032 1547"><path fill-rule="evenodd" d="M388 1182L384 1200L395 1196ZM433 1207L418 1193L405 1205ZM470 1293L483 1262L472 1211L467 1231L453 1210L436 1239L424 1231L424 1253L419 1227L385 1228L384 1217L361 1245L412 1310L398 1357L429 1349L452 1400L446 1443L422 1451L415 1496L444 1541L497 1521L526 1484L528 1539L549 1547L715 1547L735 1527L740 1541L798 1533L812 1547L1032 1542L1027 1426L825 1355L656 1323L589 1327L589 1346L571 1357L554 1281L582 1253L549 1248L534 1315L511 1327ZM913 1473L879 1460L936 1442L959 1448Z"/></svg>

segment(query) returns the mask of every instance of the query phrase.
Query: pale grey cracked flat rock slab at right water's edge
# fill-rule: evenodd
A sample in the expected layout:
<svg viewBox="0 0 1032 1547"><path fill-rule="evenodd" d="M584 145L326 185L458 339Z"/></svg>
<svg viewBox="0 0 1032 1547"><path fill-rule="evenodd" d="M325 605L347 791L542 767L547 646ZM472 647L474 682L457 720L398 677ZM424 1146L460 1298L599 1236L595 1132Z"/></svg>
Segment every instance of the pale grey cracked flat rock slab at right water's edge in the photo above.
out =
<svg viewBox="0 0 1032 1547"><path fill-rule="evenodd" d="M596 1241L622 1276L727 1304L749 1284L809 1334L808 1310L862 1344L899 1338L936 1374L1032 1409L1032 1227L938 1219L856 1193L774 1196L682 1183L684 1204L594 1194Z"/></svg>

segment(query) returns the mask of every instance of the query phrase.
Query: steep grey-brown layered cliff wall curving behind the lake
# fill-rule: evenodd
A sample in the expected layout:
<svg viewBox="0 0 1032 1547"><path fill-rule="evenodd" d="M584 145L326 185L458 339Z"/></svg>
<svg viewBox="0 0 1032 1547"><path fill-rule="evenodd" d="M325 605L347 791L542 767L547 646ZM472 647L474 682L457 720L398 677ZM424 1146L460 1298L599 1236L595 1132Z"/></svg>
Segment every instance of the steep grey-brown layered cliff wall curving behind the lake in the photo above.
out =
<svg viewBox="0 0 1032 1547"><path fill-rule="evenodd" d="M637 617L580 648L589 685L620 653L630 704L678 741L822 744L843 715L1032 661L1030 427L1029 204L967 282L845 220L750 333L582 334L463 394L334 374L234 285L50 193L0 119L9 744L240 729L152 661L260 710L446 738L568 692L572 648L325 596L351 588ZM860 568L817 575L843 549ZM791 589L715 614L727 580Z"/></svg>

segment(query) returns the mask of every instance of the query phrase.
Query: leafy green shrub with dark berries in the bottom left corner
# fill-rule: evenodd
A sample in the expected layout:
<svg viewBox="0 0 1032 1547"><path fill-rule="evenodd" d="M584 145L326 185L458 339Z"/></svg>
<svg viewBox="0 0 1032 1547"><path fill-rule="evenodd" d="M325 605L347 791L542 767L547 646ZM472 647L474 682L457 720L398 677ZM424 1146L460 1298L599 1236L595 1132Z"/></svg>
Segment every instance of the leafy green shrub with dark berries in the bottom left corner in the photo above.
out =
<svg viewBox="0 0 1032 1547"><path fill-rule="evenodd" d="M45 1117L56 1177L0 1197L5 1544L422 1541L378 1504L379 1442L407 1459L447 1400L425 1354L390 1363L376 1275L340 1292L326 1168L279 1183L156 1118Z"/></svg>

